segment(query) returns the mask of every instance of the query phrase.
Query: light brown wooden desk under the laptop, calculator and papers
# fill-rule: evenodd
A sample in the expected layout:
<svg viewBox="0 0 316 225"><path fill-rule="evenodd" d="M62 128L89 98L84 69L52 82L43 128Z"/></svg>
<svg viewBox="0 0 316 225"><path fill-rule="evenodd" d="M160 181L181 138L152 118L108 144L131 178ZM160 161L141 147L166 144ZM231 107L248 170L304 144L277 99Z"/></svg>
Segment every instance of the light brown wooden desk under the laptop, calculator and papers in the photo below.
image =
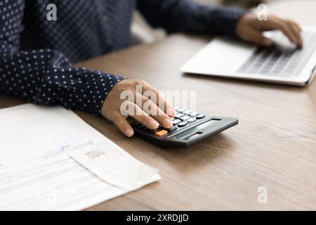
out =
<svg viewBox="0 0 316 225"><path fill-rule="evenodd" d="M190 148L166 150L77 112L162 174L155 184L88 210L316 210L316 82L299 88L181 74L180 65L209 40L175 35L79 64L145 79L160 90L196 90L198 110L240 122ZM20 103L0 96L0 108ZM268 188L268 204L258 204L259 186Z"/></svg>

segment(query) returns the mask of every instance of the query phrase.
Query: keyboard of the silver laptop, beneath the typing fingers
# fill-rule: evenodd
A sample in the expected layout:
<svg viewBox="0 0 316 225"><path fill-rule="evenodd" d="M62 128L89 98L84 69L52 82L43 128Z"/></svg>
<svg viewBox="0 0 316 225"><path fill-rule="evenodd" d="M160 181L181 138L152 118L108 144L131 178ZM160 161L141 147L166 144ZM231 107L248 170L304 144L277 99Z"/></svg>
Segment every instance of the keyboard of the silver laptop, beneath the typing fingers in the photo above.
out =
<svg viewBox="0 0 316 225"><path fill-rule="evenodd" d="M275 44L268 48L258 47L237 72L279 77L298 76L316 49L315 32L303 32L302 36L304 47L298 49L293 44L285 45L289 42L287 37L277 32L272 37Z"/></svg>

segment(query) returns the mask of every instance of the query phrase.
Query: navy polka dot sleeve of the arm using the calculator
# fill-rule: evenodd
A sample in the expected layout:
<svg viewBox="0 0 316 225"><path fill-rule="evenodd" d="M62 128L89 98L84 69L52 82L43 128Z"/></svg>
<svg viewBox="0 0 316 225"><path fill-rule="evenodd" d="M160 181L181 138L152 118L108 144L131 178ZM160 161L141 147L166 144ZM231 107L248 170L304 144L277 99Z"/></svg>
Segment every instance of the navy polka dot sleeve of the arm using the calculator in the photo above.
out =
<svg viewBox="0 0 316 225"><path fill-rule="evenodd" d="M41 105L100 114L112 86L124 79L73 68L59 51L19 50L24 1L0 0L0 92Z"/></svg>

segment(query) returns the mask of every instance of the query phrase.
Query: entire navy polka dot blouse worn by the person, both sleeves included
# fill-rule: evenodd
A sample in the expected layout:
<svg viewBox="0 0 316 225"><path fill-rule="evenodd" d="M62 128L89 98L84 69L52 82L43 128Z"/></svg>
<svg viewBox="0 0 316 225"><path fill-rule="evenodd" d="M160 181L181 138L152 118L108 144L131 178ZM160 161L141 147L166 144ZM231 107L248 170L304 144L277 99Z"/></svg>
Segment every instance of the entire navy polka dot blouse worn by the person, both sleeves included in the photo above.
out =
<svg viewBox="0 0 316 225"><path fill-rule="evenodd" d="M48 4L56 19L48 20ZM234 34L244 11L187 0L0 0L0 92L100 114L124 77L72 63L129 46L133 9L171 32Z"/></svg>

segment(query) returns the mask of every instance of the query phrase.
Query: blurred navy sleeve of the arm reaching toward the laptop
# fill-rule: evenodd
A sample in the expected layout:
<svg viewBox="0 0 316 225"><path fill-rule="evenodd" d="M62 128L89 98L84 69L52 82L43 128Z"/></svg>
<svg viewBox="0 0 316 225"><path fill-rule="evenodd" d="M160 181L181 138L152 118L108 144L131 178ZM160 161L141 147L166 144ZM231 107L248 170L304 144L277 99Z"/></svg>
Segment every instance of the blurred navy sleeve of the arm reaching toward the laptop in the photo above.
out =
<svg viewBox="0 0 316 225"><path fill-rule="evenodd" d="M167 32L195 32L236 36L235 27L246 10L218 8L191 0L138 0L138 9L153 27Z"/></svg>

